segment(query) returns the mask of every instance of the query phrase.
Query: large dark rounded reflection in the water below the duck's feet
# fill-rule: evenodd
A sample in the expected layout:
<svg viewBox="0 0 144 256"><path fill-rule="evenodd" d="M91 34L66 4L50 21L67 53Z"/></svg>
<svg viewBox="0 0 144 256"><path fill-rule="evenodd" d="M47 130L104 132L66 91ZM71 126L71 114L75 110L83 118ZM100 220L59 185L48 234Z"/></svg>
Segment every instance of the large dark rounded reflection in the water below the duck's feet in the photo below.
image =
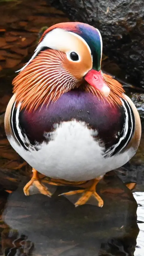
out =
<svg viewBox="0 0 144 256"><path fill-rule="evenodd" d="M2 253L134 255L139 233L137 203L116 175L107 176L100 187L103 208L92 205L75 208L66 198L56 195L52 199L41 194L26 197L22 184L9 196L3 212Z"/></svg>

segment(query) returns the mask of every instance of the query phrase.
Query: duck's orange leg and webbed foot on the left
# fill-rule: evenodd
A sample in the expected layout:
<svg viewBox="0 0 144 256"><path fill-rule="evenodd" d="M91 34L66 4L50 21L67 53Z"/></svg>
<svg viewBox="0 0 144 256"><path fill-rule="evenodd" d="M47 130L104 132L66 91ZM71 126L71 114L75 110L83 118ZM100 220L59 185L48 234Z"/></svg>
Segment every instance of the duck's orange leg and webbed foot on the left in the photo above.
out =
<svg viewBox="0 0 144 256"><path fill-rule="evenodd" d="M48 191L48 189L43 184L41 184L39 177L38 177L38 171L35 170L34 168L32 168L32 172L33 172L32 179L23 188L24 194L26 196L29 196L30 187L32 185L35 185L35 187L38 188L38 190L41 192L41 194L51 197L52 194Z"/></svg>

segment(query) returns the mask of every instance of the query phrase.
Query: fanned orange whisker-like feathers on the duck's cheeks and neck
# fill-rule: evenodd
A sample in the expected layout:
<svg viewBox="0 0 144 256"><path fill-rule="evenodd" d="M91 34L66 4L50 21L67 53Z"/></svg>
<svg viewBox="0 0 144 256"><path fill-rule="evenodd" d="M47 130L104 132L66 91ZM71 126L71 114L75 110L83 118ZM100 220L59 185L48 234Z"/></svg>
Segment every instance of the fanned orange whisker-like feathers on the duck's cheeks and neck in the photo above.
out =
<svg viewBox="0 0 144 256"><path fill-rule="evenodd" d="M54 102L63 93L80 86L81 82L64 68L64 58L64 53L57 50L42 51L14 78L13 92L16 93L16 104L21 102L21 109L35 110L40 105ZM124 97L122 85L110 75L102 73L102 76L110 87L108 97L89 84L82 85L82 89L99 99L107 100L110 104L121 105L120 98ZM67 84L67 80L71 80L71 86Z"/></svg>

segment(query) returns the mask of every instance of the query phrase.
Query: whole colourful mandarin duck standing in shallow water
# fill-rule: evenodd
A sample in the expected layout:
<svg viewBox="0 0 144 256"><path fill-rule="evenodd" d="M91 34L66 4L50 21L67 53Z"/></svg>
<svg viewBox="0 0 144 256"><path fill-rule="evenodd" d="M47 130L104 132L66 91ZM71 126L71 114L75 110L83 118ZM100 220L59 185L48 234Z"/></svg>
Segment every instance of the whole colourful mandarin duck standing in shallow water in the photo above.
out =
<svg viewBox="0 0 144 256"><path fill-rule="evenodd" d="M28 63L13 80L14 95L5 113L11 146L33 171L32 185L49 197L38 173L52 185L83 186L63 193L90 197L103 206L96 185L105 173L134 156L141 123L122 85L101 71L102 38L85 23L59 23L41 36Z"/></svg>

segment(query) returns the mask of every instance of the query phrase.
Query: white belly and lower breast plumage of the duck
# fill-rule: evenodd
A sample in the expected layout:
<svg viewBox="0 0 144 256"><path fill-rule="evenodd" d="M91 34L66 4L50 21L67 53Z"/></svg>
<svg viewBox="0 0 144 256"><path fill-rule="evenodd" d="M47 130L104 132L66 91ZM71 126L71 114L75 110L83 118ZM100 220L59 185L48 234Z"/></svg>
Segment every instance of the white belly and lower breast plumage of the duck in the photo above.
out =
<svg viewBox="0 0 144 256"><path fill-rule="evenodd" d="M97 131L76 120L55 125L55 131L44 136L50 136L51 141L40 144L38 151L26 151L13 138L9 140L32 167L52 178L70 181L94 179L122 166L134 155L129 149L118 156L104 158L104 146L94 140Z"/></svg>

